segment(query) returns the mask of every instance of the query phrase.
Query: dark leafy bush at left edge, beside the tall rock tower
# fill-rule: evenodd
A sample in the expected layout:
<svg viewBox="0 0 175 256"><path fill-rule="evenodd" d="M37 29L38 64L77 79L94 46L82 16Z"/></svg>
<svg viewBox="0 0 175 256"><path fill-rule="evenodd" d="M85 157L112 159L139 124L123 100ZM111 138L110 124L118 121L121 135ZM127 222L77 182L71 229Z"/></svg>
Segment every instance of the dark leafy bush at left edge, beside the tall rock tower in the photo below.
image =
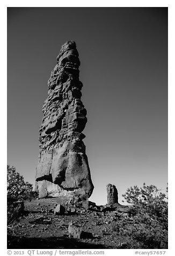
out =
<svg viewBox="0 0 175 256"><path fill-rule="evenodd" d="M25 182L15 167L7 166L7 178L8 224L11 224L24 212L24 200L31 198L33 191L32 184Z"/></svg>

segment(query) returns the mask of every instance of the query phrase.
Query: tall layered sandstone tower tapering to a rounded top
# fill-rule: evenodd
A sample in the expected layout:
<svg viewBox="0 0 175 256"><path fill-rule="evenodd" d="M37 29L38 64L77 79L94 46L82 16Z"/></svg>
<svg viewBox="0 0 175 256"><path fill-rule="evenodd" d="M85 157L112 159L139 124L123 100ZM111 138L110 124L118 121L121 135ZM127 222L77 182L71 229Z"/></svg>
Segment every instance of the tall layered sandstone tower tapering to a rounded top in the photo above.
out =
<svg viewBox="0 0 175 256"><path fill-rule="evenodd" d="M75 42L65 42L48 80L48 97L42 108L36 173L39 197L76 195L86 200L93 191L83 143L87 118L79 65Z"/></svg>

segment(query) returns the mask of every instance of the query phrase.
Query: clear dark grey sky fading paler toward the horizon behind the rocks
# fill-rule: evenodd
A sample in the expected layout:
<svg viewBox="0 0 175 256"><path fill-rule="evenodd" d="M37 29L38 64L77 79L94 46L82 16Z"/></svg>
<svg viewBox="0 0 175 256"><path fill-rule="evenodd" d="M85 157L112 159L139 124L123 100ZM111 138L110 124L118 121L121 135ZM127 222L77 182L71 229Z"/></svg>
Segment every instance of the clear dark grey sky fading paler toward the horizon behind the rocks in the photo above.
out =
<svg viewBox="0 0 175 256"><path fill-rule="evenodd" d="M34 183L47 81L76 41L94 191L167 183L167 8L8 8L8 164Z"/></svg>

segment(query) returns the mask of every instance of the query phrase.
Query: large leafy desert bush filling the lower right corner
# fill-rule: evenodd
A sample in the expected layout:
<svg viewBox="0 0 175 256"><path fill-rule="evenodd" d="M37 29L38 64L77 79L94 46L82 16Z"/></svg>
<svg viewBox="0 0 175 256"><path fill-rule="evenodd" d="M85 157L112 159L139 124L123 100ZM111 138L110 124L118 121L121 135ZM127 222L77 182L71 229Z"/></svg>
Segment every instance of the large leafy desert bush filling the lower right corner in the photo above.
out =
<svg viewBox="0 0 175 256"><path fill-rule="evenodd" d="M167 196L144 183L142 188L130 187L123 197L134 204L115 227L127 237L125 247L167 248Z"/></svg>

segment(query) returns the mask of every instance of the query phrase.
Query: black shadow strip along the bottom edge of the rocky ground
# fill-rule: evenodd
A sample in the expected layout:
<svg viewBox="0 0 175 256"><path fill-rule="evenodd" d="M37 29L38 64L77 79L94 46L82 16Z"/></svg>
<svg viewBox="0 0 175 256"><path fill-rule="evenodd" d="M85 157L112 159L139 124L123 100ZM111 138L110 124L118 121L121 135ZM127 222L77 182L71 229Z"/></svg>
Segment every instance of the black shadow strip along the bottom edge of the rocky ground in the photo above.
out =
<svg viewBox="0 0 175 256"><path fill-rule="evenodd" d="M66 237L18 237L8 235L8 249L93 249L104 248L101 244L89 244L82 241L78 241L74 238Z"/></svg>

